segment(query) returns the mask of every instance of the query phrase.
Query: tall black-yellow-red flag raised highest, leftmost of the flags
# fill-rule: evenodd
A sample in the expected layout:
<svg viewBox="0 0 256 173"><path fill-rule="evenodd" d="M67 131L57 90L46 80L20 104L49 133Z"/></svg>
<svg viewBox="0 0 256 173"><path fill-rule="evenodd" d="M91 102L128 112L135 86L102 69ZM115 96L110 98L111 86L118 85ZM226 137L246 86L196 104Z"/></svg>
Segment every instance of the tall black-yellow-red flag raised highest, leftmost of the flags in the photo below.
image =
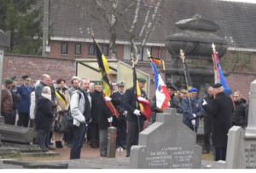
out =
<svg viewBox="0 0 256 173"><path fill-rule="evenodd" d="M108 61L104 54L102 54L102 50L100 49L98 43L96 43L96 40L94 40L94 46L96 49L96 57L100 69L100 75L102 79L102 91L103 91L103 97L112 95L112 85L111 85L111 75L109 72L108 67ZM113 107L113 104L110 101L105 101L109 110L112 112L112 114L116 117L119 116L119 112Z"/></svg>

